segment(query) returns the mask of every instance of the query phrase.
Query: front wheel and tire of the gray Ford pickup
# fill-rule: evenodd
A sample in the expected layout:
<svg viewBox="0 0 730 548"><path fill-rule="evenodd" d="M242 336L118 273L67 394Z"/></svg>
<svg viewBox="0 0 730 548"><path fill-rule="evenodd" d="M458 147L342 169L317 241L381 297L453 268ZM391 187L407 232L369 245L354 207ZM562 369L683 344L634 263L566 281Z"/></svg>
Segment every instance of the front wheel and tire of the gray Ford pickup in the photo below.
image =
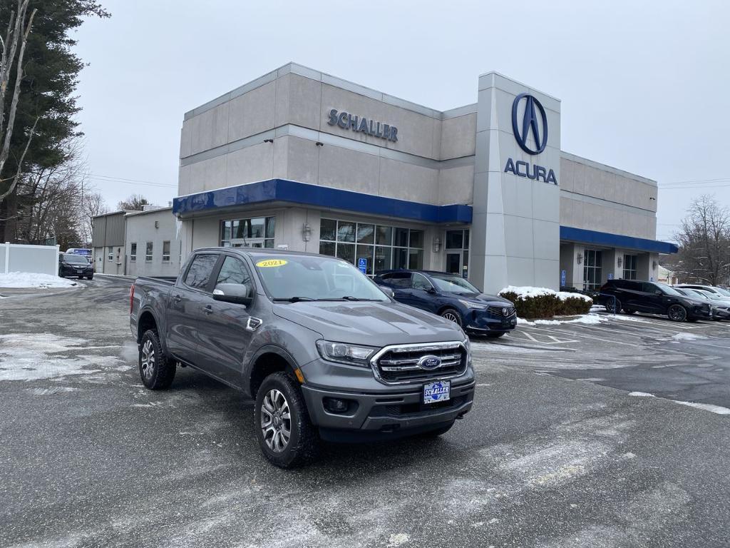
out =
<svg viewBox="0 0 730 548"><path fill-rule="evenodd" d="M301 390L281 371L264 378L256 392L253 429L264 457L279 468L296 468L317 453L319 437Z"/></svg>

